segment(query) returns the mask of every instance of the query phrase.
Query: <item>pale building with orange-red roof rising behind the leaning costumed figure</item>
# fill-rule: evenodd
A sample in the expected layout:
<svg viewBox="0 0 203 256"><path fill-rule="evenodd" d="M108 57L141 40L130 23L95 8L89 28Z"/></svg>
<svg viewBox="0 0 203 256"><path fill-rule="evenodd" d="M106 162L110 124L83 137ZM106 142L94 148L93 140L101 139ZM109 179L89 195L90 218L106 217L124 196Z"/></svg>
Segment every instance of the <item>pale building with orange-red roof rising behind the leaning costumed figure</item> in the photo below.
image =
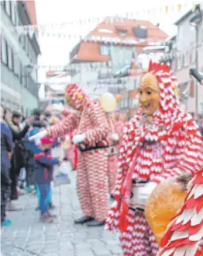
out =
<svg viewBox="0 0 203 256"><path fill-rule="evenodd" d="M71 64L79 66L71 75L72 82L90 95L134 89L139 70L137 56L143 54L143 47L160 44L166 38L167 34L149 21L105 20L71 51ZM98 66L92 68L91 63Z"/></svg>

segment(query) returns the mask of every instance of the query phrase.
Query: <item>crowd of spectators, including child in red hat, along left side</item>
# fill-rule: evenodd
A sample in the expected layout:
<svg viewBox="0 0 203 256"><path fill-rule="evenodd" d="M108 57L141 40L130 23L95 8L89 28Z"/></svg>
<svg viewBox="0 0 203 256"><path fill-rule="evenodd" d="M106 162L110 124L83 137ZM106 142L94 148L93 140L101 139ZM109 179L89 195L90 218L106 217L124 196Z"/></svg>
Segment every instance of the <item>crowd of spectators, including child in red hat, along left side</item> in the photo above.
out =
<svg viewBox="0 0 203 256"><path fill-rule="evenodd" d="M1 106L1 223L11 224L7 211L20 211L19 196L25 193L37 195L36 210L40 219L52 222L54 208L51 200L53 166L66 160L64 154L51 156L50 149L62 147L61 139L45 137L39 142L29 142L29 137L60 120L60 114L33 110L31 117L23 117L20 111Z"/></svg>

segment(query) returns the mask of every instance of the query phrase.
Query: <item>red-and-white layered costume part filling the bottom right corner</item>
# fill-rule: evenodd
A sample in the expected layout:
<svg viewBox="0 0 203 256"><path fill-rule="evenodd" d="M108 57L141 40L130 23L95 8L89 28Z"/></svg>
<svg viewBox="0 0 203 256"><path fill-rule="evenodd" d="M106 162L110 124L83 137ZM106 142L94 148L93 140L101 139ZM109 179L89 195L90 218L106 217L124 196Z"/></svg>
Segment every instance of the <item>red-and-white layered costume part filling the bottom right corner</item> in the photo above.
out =
<svg viewBox="0 0 203 256"><path fill-rule="evenodd" d="M188 187L184 205L168 225L157 256L203 255L203 168Z"/></svg>

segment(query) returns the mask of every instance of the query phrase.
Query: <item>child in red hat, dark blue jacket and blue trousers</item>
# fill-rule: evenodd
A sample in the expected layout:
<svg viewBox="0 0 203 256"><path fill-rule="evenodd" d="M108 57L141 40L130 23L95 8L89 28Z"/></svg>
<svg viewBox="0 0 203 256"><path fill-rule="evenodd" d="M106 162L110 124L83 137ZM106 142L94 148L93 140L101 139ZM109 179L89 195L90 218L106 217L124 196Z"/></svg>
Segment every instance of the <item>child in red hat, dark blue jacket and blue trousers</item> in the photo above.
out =
<svg viewBox="0 0 203 256"><path fill-rule="evenodd" d="M49 212L48 198L50 195L50 182L53 177L53 166L61 161L50 156L50 148L53 146L53 139L44 137L41 139L40 153L34 155L35 182L40 196L40 212L43 222L53 222L53 216Z"/></svg>

